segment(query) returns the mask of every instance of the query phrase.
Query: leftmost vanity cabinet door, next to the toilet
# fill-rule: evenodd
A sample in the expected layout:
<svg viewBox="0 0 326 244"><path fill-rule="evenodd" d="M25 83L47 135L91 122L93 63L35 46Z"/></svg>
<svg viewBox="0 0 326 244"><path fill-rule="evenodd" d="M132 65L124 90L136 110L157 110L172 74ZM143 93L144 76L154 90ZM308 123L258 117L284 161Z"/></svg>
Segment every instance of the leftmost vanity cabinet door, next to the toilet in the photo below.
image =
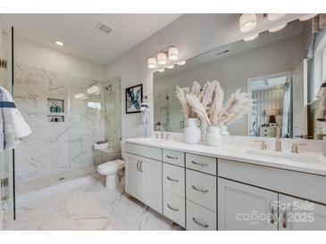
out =
<svg viewBox="0 0 326 244"><path fill-rule="evenodd" d="M126 192L143 200L143 173L140 170L141 157L126 153Z"/></svg>

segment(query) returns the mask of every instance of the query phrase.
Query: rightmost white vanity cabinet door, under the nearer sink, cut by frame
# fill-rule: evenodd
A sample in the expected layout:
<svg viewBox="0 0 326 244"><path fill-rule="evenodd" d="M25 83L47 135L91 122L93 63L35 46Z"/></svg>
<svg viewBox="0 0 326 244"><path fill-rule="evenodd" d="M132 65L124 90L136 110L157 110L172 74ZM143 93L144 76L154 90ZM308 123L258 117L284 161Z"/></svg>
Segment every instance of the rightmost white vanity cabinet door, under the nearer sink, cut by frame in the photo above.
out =
<svg viewBox="0 0 326 244"><path fill-rule="evenodd" d="M326 206L280 194L280 231L326 231Z"/></svg>

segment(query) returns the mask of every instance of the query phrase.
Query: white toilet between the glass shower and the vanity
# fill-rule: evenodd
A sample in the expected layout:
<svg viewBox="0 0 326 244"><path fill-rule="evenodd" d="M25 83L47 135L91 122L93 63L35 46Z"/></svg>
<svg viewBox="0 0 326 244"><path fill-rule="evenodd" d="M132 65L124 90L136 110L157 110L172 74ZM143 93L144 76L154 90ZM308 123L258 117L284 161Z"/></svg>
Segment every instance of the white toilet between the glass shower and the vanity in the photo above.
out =
<svg viewBox="0 0 326 244"><path fill-rule="evenodd" d="M121 143L121 157L124 158L124 142ZM124 168L124 160L116 159L103 163L97 167L97 172L100 175L105 175L105 187L114 189L119 185L119 175Z"/></svg>

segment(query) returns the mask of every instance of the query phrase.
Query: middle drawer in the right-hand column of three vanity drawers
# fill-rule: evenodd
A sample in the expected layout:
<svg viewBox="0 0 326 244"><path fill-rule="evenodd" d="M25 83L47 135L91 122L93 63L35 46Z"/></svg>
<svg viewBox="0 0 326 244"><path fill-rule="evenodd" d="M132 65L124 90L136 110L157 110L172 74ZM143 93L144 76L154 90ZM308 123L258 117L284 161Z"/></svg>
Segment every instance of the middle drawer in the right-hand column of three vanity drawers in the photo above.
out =
<svg viewBox="0 0 326 244"><path fill-rule="evenodd" d="M187 199L216 211L216 176L186 170Z"/></svg>

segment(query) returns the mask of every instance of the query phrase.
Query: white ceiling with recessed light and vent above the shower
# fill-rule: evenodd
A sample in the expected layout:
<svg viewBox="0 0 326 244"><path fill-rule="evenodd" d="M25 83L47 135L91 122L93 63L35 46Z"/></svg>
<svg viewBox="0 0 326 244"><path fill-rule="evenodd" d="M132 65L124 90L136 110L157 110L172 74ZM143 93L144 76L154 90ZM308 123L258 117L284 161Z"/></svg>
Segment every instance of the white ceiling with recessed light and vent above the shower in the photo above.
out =
<svg viewBox="0 0 326 244"><path fill-rule="evenodd" d="M15 37L105 65L180 16L174 13L0 14L0 20L4 29L14 27ZM96 25L100 21L114 30L110 34L99 31ZM55 45L56 40L64 45Z"/></svg>

